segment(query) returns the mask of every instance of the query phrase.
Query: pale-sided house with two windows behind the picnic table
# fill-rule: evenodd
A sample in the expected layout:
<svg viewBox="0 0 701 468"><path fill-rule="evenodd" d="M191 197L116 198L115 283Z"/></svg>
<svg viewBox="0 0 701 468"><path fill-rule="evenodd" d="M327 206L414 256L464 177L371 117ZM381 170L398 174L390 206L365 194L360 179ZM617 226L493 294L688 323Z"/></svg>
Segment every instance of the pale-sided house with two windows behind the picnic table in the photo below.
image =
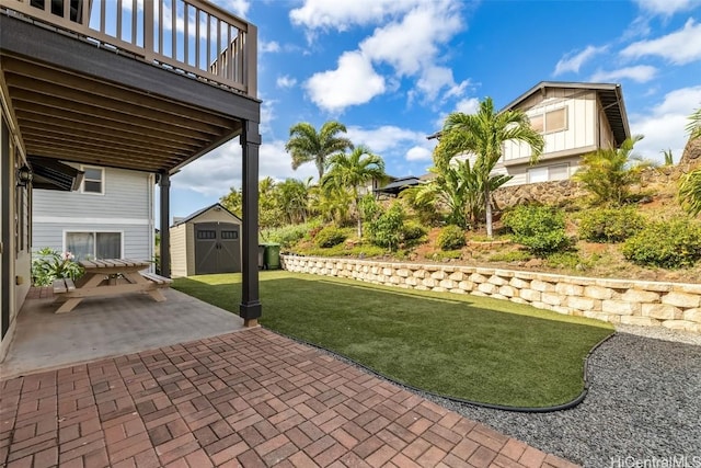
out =
<svg viewBox="0 0 701 468"><path fill-rule="evenodd" d="M83 173L78 190L34 189L33 248L71 252L77 260L153 259L156 176L72 165Z"/></svg>

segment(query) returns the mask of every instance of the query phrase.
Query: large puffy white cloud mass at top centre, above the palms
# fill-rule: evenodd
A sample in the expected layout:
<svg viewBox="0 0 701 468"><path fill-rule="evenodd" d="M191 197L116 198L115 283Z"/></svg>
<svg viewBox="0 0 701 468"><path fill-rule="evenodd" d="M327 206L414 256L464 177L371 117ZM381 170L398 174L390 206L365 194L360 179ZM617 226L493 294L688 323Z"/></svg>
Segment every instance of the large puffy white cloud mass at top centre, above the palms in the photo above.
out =
<svg viewBox="0 0 701 468"><path fill-rule="evenodd" d="M388 12L401 13L388 24L377 27L372 35L360 42L357 50L344 53L338 59L336 70L314 75L307 82L312 101L323 109L342 111L348 105L370 101L388 91L391 83L399 83L399 79L404 77L416 78L416 91L427 101L436 100L446 89L443 99L462 95L469 80L456 83L452 70L440 66L440 46L448 43L463 26L457 11L459 3L446 0L418 3L421 5L411 1L379 1L367 5L369 11L363 11L358 10L357 5L346 2L336 4L309 0L302 10L310 8L321 15L313 16L315 20L310 23L304 23L309 27L322 27L324 24L341 27L347 22L361 22L360 18L363 21L370 21L384 18ZM331 16L324 20L324 14ZM335 19L335 22L331 21L331 18ZM375 65L389 65L394 76L379 76L374 68ZM354 78L366 77L372 81L352 81L347 77L348 72L353 72L352 66L359 68L354 72ZM415 91L410 91L410 100L416 94Z"/></svg>

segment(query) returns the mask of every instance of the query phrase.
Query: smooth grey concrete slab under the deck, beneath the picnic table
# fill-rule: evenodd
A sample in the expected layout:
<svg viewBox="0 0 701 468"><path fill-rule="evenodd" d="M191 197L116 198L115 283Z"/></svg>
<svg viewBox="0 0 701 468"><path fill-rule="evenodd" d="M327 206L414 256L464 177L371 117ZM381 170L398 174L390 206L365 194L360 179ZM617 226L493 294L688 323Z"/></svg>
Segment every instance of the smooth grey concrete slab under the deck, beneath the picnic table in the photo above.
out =
<svg viewBox="0 0 701 468"><path fill-rule="evenodd" d="M153 350L241 330L243 320L174 289L166 300L146 294L87 298L68 313L54 313L50 288L32 288L18 317L0 377Z"/></svg>

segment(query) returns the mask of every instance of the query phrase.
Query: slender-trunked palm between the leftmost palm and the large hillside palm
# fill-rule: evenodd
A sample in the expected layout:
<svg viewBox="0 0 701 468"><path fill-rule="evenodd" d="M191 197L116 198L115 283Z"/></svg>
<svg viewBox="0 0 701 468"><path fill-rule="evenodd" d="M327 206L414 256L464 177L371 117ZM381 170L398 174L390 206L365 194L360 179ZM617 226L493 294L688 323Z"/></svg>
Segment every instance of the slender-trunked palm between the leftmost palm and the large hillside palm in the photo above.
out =
<svg viewBox="0 0 701 468"><path fill-rule="evenodd" d="M358 222L358 238L363 238L363 215L358 187L374 179L384 180L384 161L365 146L356 147L349 155L340 152L331 157L330 170L321 180L325 190L344 187L353 194L353 207Z"/></svg>

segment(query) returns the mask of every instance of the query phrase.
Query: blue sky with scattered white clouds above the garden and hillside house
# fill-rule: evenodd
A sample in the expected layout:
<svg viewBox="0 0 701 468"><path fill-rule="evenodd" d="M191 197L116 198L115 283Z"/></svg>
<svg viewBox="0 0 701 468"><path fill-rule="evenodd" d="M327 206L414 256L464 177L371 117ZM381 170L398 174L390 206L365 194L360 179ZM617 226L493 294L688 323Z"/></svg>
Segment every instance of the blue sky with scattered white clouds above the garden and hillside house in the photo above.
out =
<svg viewBox="0 0 701 468"><path fill-rule="evenodd" d="M290 167L290 126L348 127L395 176L430 165L426 140L455 111L491 96L501 109L540 81L618 82L637 152L675 160L701 106L701 0L219 0L258 27L261 178ZM241 186L238 140L172 179L186 216Z"/></svg>

